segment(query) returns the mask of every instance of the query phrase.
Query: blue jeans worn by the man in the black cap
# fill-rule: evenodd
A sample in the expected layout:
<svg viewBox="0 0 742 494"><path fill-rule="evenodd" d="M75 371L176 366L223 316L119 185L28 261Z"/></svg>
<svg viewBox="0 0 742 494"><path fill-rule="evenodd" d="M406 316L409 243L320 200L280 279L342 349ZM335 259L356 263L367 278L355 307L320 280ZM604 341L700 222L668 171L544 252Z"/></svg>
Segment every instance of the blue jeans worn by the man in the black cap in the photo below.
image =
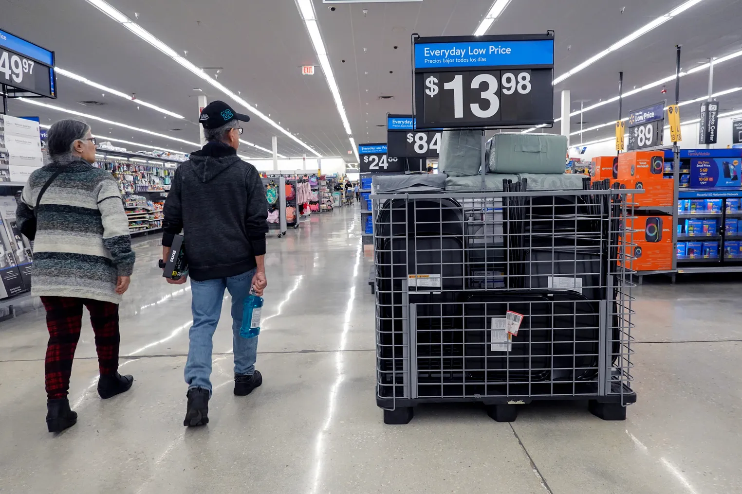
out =
<svg viewBox="0 0 742 494"><path fill-rule="evenodd" d="M193 302L193 326L188 332L191 344L188 347L188 361L185 363L185 382L188 389L201 387L211 393L211 350L212 337L219 324L222 312L224 289L232 296L232 347L234 349L234 373L255 373L257 358L257 337L240 336L242 326L243 301L250 293L252 277L255 270L249 270L229 278L206 281L191 279L191 296Z"/></svg>

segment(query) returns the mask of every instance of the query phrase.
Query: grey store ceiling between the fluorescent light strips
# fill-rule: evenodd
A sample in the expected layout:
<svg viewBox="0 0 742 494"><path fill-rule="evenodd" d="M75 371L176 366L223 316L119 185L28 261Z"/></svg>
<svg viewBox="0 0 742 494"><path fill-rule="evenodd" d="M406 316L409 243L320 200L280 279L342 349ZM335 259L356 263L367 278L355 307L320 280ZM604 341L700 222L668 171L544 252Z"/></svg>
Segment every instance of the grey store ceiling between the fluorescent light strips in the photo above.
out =
<svg viewBox="0 0 742 494"><path fill-rule="evenodd" d="M387 112L412 113L410 35L470 35L492 4L492 0L424 0L332 4L335 11L330 11L330 5L313 1L350 127L359 144L386 141ZM177 52L185 55L187 51L188 60L217 76L229 89L239 91L243 99L322 156L343 156L355 161L355 155L348 153L349 138L321 70L318 67L315 76L301 75L302 65L318 66L319 62L294 0L108 2L131 19L138 14L137 22L145 30ZM554 30L555 76L559 76L680 3L682 0L512 0L489 34ZM234 103L85 0L0 0L0 12L0 28L54 50L58 67L123 93L136 93L137 98L180 113L186 119L163 116L143 106L137 109L133 101L103 96L101 90L62 76L58 78L59 99L44 100L46 103L192 143L198 141L198 95ZM676 44L683 45L683 70L702 64L709 57L740 50L741 21L742 0L702 1L557 84L555 116L559 116L559 93L563 89L571 90L572 110L579 110L580 101L587 106L616 96L620 71L624 73L625 90L671 75ZM740 61L715 68L715 92L742 86ZM680 99L706 94L707 77L708 70L704 70L681 79ZM667 89L666 95L657 88L626 98L624 114L672 98L674 87L671 84ZM391 98L379 99L388 96ZM89 100L103 104L83 106L78 102ZM723 96L720 101L723 110L742 108L742 91ZM10 113L38 115L42 123L65 117L60 111L22 101L11 101ZM698 113L697 104L681 111L683 119L697 118ZM583 124L592 127L614 121L617 115L617 104L608 104L585 113ZM184 152L194 150L191 144L88 120L93 133L100 136L108 134ZM559 124L544 131L557 133L557 127ZM573 132L579 130L580 116L571 119L571 127ZM257 117L244 128L246 141L270 149L272 136L278 136L278 153L283 156L312 156L309 150ZM611 127L603 127L585 133L582 139L594 141L612 133ZM580 136L572 137L573 144L579 141ZM125 147L137 149L130 144ZM269 153L246 144L240 153L253 158L269 157Z"/></svg>

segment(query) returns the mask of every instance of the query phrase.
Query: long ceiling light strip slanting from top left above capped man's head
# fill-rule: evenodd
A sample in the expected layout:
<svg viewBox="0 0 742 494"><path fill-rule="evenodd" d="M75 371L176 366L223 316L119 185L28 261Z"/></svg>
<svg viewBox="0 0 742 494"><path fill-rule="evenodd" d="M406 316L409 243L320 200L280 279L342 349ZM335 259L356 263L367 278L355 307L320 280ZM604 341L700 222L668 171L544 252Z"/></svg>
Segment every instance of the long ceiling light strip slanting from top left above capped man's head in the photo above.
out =
<svg viewBox="0 0 742 494"><path fill-rule="evenodd" d="M305 147L307 150L312 152L315 156L321 157L321 154L315 151L314 149L312 149L312 147L310 147L309 144L306 144L300 138L294 136L288 130L281 127L278 123L270 119L269 116L267 116L265 113L257 110L257 108L252 106L252 104L249 104L247 101L245 101L240 96L235 94L232 90L227 89L223 84L220 84L216 79L209 76L209 74L205 73L202 69L200 69L199 67L196 67L194 64L191 64L190 61L186 60L182 56L179 56L175 50L173 50L167 44L160 41L160 39L157 39L155 36L153 36L143 27L139 26L139 24L136 24L134 21L129 19L127 16L120 13L119 10L116 10L114 7L111 7L111 5L108 4L106 1L104 0L86 0L86 1L88 1L88 3L93 5L94 7L97 7L102 13L105 13L105 15L109 16L111 19L114 19L114 21L122 24L123 27L125 27L126 29L130 30L132 33L139 36L139 38L143 39L144 41L147 41L149 44L157 48L157 50L160 50L162 53L165 53L165 55L169 56L174 61L177 61L178 64L190 70L191 73L194 73L195 75L199 76L201 79L203 79L204 81L207 81L213 87L217 88L222 93L226 94L226 96L229 96L229 98L231 98L232 100L237 101L237 103L241 104L243 107L246 107L255 116L262 119L263 121L266 121L268 124L272 125L272 127L275 127L281 133L291 138L292 141L295 141L298 144L300 144L302 147ZM307 0L307 1L310 1L310 0Z"/></svg>

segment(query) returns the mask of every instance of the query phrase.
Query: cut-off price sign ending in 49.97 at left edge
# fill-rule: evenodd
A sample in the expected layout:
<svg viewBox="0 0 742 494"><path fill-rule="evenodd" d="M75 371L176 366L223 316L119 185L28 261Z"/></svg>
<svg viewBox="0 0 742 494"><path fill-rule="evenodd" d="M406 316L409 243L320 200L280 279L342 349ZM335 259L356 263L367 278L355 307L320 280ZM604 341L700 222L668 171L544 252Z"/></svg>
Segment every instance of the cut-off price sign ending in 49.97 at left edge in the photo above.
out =
<svg viewBox="0 0 742 494"><path fill-rule="evenodd" d="M54 52L0 30L0 84L56 98Z"/></svg>

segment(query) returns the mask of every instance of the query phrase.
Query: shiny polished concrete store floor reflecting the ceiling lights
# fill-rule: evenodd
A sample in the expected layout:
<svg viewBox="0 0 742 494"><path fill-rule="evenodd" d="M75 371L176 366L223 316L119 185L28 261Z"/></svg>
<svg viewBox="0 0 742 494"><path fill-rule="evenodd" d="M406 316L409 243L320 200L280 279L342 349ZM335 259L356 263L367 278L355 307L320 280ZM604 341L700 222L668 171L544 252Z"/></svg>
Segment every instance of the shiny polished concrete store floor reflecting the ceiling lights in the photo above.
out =
<svg viewBox="0 0 742 494"><path fill-rule="evenodd" d="M0 323L2 493L742 492L742 283L664 280L635 291L637 404L623 422L582 403L533 404L512 424L473 405L420 407L387 426L375 406L370 258L357 206L269 240L257 368L232 395L225 304L207 427L183 427L190 290L165 284L139 241L121 307L129 393L102 401L89 323L73 367L76 426L45 427L43 309Z"/></svg>

